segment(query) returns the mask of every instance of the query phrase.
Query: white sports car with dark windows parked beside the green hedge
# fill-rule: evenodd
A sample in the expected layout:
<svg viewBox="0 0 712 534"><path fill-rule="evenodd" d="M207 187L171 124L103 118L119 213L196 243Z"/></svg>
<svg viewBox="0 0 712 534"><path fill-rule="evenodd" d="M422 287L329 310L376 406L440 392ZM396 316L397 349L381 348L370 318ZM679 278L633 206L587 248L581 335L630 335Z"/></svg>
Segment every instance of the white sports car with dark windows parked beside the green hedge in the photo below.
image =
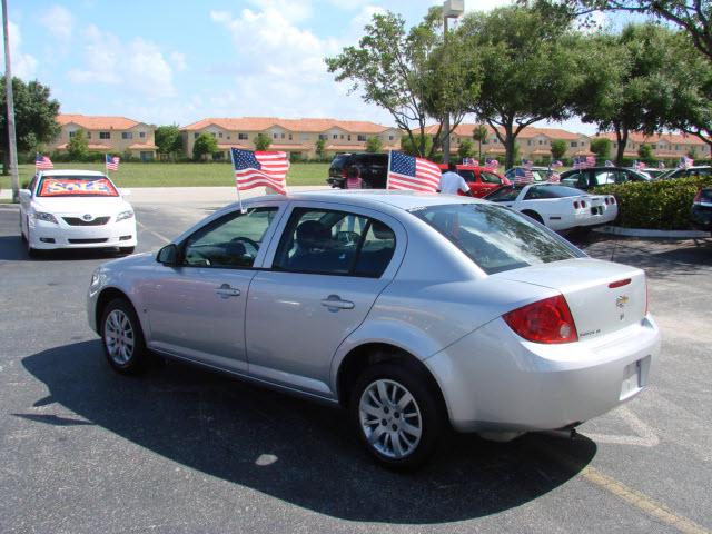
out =
<svg viewBox="0 0 712 534"><path fill-rule="evenodd" d="M557 231L606 225L619 215L615 197L589 195L558 184L503 186L484 198L516 209Z"/></svg>

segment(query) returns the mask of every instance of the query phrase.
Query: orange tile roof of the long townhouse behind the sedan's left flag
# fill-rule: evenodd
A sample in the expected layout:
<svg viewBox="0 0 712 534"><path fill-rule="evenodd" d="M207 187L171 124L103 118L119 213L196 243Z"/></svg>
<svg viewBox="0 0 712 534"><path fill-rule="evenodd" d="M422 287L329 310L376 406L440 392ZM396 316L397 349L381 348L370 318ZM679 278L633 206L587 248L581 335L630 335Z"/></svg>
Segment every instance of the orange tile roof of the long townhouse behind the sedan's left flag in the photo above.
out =
<svg viewBox="0 0 712 534"><path fill-rule="evenodd" d="M337 119L280 119L278 117L235 117L207 118L188 125L184 131L202 130L209 126L217 126L229 131L264 131L274 126L288 131L319 134L340 128L353 134L382 134L390 127L363 120Z"/></svg>

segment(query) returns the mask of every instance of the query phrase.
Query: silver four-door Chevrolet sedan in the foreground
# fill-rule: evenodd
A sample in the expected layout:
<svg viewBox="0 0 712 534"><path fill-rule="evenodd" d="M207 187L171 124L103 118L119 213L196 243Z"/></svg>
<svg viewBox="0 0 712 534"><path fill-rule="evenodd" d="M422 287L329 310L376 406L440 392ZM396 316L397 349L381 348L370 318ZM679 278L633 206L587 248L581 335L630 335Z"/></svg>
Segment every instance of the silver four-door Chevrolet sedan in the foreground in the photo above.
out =
<svg viewBox="0 0 712 534"><path fill-rule="evenodd" d="M344 406L392 468L422 464L448 425L574 427L647 384L645 274L508 208L389 191L245 208L96 270L89 324L116 370L160 355Z"/></svg>

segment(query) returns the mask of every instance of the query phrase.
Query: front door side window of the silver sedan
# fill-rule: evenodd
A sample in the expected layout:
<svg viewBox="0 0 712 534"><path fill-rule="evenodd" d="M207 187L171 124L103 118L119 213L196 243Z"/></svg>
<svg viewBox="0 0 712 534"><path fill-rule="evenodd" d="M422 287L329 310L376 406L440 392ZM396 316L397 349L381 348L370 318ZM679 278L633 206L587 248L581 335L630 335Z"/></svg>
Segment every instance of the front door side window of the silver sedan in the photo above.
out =
<svg viewBox="0 0 712 534"><path fill-rule="evenodd" d="M186 239L184 265L189 267L251 267L277 208L234 211Z"/></svg>

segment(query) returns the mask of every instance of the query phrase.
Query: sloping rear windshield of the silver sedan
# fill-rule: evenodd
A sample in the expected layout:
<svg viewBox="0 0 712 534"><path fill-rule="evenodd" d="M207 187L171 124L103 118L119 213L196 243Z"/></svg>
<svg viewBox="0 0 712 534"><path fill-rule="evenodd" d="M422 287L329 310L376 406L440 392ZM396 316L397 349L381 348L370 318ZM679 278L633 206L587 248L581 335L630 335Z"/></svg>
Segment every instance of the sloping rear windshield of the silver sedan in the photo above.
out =
<svg viewBox="0 0 712 534"><path fill-rule="evenodd" d="M584 256L528 217L496 205L428 206L411 212L488 275Z"/></svg>

